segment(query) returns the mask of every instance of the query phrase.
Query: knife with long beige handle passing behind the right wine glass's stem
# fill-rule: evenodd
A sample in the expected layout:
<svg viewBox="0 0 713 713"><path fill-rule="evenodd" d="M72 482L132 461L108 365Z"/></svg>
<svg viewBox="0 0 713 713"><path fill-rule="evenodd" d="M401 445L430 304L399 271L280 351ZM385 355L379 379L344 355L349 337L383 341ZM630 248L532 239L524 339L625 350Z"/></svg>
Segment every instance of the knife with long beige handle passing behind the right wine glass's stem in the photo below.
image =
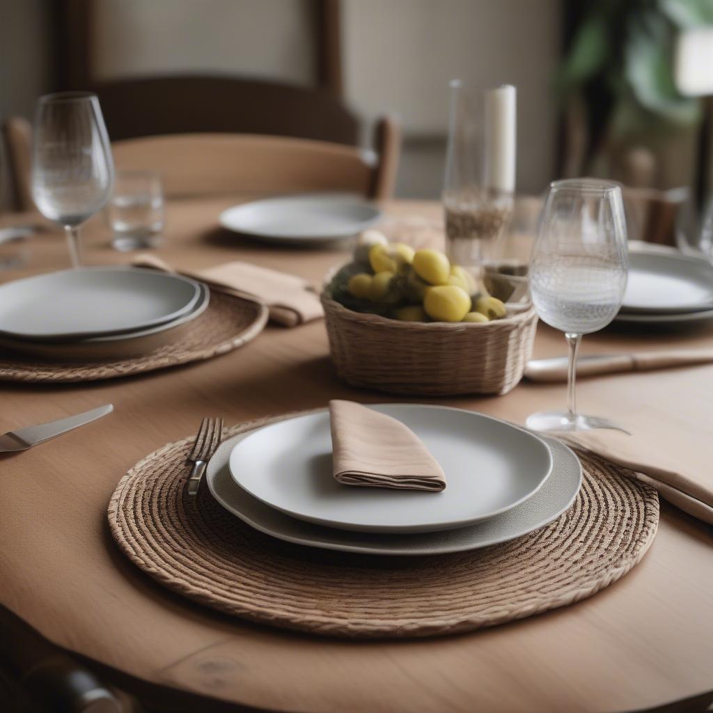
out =
<svg viewBox="0 0 713 713"><path fill-rule="evenodd" d="M637 354L588 354L577 359L577 376L618 374L621 371L652 371L673 366L694 366L713 361L713 351L704 349L672 349L667 352ZM525 378L530 381L566 381L567 357L532 359L525 366Z"/></svg>

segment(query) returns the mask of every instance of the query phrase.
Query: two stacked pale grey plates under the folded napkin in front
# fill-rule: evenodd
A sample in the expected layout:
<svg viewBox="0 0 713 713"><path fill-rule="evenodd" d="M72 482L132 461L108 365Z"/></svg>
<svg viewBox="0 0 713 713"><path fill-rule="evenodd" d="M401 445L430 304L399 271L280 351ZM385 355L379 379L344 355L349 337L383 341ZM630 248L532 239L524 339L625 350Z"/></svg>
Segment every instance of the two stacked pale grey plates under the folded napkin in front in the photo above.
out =
<svg viewBox="0 0 713 713"><path fill-rule="evenodd" d="M441 493L344 486L332 477L329 411L222 443L206 478L214 498L268 535L317 548L429 555L506 542L574 501L580 462L569 448L472 411L384 404L441 464Z"/></svg>

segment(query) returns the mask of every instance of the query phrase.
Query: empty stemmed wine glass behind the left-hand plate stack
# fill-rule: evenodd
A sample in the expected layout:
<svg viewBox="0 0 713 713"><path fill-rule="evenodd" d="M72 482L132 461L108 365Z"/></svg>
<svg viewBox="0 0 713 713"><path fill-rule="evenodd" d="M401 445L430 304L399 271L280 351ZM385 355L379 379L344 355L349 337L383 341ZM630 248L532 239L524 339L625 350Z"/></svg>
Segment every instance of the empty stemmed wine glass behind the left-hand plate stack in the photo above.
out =
<svg viewBox="0 0 713 713"><path fill-rule="evenodd" d="M32 197L44 217L63 225L73 267L80 267L79 226L111 195L114 164L99 100L88 92L41 96L32 147Z"/></svg>

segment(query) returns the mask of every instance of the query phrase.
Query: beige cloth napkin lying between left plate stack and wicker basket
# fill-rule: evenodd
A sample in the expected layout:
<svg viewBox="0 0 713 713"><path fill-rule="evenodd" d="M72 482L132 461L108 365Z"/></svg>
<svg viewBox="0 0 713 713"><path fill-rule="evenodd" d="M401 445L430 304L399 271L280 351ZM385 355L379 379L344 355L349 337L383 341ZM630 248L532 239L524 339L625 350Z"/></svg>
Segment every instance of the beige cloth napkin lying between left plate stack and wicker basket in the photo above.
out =
<svg viewBox="0 0 713 713"><path fill-rule="evenodd" d="M153 267L155 270L174 272L170 265L155 255L138 255L132 264L135 267ZM319 296L310 291L307 281L296 275L287 275L286 272L240 261L225 262L205 270L175 272L199 279L220 292L257 299L267 304L270 319L284 327L295 327L324 316Z"/></svg>

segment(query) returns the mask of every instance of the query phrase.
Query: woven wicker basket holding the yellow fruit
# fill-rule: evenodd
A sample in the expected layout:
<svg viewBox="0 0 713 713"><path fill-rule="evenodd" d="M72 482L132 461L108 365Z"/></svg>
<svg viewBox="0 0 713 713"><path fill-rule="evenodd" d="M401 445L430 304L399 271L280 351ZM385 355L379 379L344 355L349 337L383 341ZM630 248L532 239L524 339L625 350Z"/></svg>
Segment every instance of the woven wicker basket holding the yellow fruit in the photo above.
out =
<svg viewBox="0 0 713 713"><path fill-rule="evenodd" d="M494 322L399 322L347 309L322 293L329 348L352 386L389 394L506 394L532 354L532 304Z"/></svg>

